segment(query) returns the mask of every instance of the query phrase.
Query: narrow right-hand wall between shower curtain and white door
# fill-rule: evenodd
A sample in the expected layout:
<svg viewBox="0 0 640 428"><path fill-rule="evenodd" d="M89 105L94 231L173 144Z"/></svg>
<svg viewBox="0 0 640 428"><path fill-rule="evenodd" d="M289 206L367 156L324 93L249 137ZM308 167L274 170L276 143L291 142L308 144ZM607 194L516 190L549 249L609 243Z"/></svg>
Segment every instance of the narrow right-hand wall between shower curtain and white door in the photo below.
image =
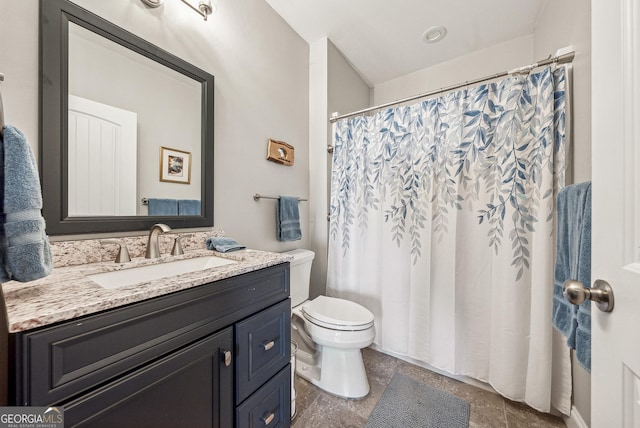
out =
<svg viewBox="0 0 640 428"><path fill-rule="evenodd" d="M548 1L534 33L536 58L573 46L573 178L591 180L591 4L582 0ZM591 376L572 353L573 405L591 424Z"/></svg>

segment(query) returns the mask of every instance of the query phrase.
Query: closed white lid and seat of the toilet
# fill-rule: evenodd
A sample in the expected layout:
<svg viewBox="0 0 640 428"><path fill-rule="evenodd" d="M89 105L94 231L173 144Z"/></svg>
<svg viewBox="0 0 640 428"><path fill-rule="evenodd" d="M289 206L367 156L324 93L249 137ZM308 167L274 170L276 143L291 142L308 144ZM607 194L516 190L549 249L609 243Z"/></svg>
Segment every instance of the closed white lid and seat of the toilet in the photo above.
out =
<svg viewBox="0 0 640 428"><path fill-rule="evenodd" d="M373 325L373 314L349 300L318 296L302 305L302 314L310 322L334 330L366 330Z"/></svg>

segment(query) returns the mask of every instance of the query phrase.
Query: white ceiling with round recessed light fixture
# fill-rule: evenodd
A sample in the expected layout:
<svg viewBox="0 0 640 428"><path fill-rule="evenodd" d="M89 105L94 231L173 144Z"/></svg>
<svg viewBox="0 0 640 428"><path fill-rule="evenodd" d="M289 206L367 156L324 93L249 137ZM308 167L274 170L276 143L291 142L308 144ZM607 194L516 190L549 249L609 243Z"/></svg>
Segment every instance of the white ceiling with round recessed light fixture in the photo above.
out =
<svg viewBox="0 0 640 428"><path fill-rule="evenodd" d="M369 85L531 34L548 0L266 0L311 44L327 37ZM422 34L442 25L446 37Z"/></svg>

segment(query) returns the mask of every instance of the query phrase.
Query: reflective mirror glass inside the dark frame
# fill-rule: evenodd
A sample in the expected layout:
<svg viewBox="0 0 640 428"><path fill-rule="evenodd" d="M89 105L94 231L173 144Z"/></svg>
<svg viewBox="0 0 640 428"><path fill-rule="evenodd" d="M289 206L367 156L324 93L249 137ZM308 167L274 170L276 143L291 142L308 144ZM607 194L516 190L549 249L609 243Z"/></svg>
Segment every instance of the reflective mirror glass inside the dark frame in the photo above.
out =
<svg viewBox="0 0 640 428"><path fill-rule="evenodd" d="M68 40L68 216L199 215L201 83L73 22Z"/></svg>

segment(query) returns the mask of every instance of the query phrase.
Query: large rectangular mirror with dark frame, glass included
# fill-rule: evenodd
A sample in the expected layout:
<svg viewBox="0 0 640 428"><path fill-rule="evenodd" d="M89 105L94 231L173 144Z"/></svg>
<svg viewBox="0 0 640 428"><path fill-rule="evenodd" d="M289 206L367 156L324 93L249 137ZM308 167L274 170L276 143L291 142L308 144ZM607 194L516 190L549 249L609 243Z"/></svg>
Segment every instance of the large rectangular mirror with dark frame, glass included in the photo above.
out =
<svg viewBox="0 0 640 428"><path fill-rule="evenodd" d="M41 0L47 233L213 226L213 84L69 1Z"/></svg>

